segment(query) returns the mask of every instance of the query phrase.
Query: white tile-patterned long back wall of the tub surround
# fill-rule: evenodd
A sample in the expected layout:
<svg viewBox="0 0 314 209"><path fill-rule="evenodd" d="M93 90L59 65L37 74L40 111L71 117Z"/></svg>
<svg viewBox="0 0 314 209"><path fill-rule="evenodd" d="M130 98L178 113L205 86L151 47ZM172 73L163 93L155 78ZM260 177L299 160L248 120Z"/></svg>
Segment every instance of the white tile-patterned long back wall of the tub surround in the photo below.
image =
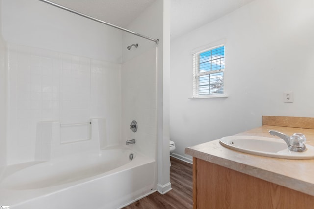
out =
<svg viewBox="0 0 314 209"><path fill-rule="evenodd" d="M40 121L106 118L107 143L119 142L120 71L120 64L8 44L8 164L34 160ZM80 132L67 129L61 129L61 143L90 136L89 125ZM69 147L83 149L79 143Z"/></svg>

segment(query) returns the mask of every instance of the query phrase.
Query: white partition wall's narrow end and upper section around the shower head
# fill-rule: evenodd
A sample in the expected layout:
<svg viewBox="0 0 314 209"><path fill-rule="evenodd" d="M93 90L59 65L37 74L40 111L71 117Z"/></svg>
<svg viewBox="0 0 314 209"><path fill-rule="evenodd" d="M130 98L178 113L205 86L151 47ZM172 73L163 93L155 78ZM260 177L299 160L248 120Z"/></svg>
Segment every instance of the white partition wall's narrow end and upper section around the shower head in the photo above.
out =
<svg viewBox="0 0 314 209"><path fill-rule="evenodd" d="M168 24L167 24L168 23ZM170 1L157 0L143 13L141 13L131 24L128 29L136 31L140 34L159 39L159 44L155 42L124 33L123 38L123 60L130 60L145 51L157 47L157 162L158 162L158 191L164 193L171 189L170 173L169 173L169 97L164 89L164 82L168 82L168 78L164 77L164 73L169 73L169 51L170 48ZM165 29L166 28L166 29ZM138 43L138 48L133 47L130 51L126 49L131 44ZM168 56L168 57L167 57ZM166 60L167 59L167 60ZM123 71L123 70L122 70ZM168 76L168 75L166 75ZM169 77L169 76L168 76ZM166 111L166 112L164 112Z"/></svg>

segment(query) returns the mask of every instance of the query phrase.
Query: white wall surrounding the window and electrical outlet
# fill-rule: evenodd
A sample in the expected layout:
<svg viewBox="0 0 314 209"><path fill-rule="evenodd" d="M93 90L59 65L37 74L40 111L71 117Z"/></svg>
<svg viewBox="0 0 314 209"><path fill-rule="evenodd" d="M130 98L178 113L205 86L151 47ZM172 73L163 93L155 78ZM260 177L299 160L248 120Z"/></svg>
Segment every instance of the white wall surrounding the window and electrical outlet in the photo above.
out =
<svg viewBox="0 0 314 209"><path fill-rule="evenodd" d="M262 115L313 117L314 2L255 0L172 40L170 137L185 147L262 125ZM192 97L193 49L226 39L228 98ZM294 103L283 103L283 92Z"/></svg>

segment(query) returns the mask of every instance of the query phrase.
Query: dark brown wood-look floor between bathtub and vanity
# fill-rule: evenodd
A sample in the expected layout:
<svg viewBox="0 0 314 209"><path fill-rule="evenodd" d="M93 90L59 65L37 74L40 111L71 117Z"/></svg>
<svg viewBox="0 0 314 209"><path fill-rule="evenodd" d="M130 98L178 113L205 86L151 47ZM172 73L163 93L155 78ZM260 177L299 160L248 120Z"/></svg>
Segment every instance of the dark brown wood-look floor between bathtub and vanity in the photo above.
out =
<svg viewBox="0 0 314 209"><path fill-rule="evenodd" d="M123 209L192 209L192 165L170 157L170 183L167 194L155 192Z"/></svg>

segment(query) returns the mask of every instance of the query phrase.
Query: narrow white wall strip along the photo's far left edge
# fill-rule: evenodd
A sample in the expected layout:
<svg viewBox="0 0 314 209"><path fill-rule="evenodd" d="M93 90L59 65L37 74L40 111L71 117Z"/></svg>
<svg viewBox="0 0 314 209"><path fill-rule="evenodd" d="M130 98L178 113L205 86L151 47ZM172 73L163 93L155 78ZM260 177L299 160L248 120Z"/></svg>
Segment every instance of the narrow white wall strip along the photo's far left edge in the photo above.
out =
<svg viewBox="0 0 314 209"><path fill-rule="evenodd" d="M2 0L0 0L1 10ZM5 68L5 43L2 39L2 24L0 16L0 168L6 165L6 119L7 119L7 96L6 96L6 68ZM1 170L1 169L0 169Z"/></svg>

